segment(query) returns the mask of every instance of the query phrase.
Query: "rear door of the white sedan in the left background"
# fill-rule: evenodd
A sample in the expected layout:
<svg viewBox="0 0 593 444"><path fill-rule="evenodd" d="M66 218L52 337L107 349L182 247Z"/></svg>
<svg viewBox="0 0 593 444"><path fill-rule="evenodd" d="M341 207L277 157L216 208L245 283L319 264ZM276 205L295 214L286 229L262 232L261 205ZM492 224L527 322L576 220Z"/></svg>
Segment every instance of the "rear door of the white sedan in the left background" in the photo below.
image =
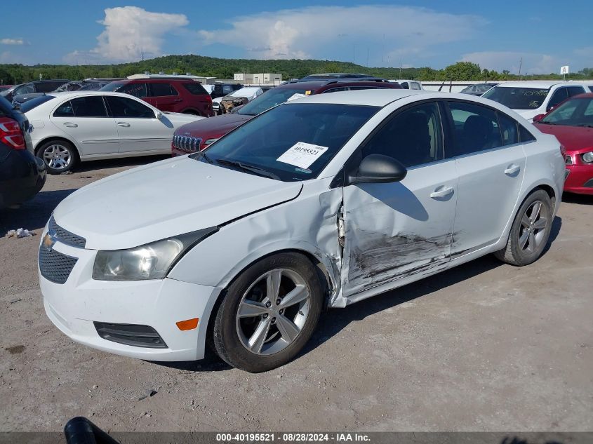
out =
<svg viewBox="0 0 593 444"><path fill-rule="evenodd" d="M81 156L119 152L115 121L107 114L100 95L62 102L54 109L50 121L76 141Z"/></svg>

